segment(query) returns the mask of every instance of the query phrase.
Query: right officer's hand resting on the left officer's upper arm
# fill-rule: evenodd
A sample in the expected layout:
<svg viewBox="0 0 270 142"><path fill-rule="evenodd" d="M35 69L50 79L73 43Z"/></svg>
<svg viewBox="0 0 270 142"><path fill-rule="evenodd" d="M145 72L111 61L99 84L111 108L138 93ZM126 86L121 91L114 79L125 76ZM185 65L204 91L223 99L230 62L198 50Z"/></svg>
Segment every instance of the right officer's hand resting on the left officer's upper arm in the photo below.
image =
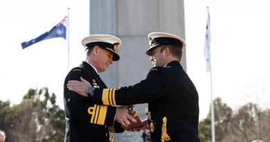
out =
<svg viewBox="0 0 270 142"><path fill-rule="evenodd" d="M81 81L69 80L68 84L66 84L66 87L71 91L75 91L81 96L88 97L87 89L91 87L91 85L87 80L84 80L82 77L80 77L80 80Z"/></svg>

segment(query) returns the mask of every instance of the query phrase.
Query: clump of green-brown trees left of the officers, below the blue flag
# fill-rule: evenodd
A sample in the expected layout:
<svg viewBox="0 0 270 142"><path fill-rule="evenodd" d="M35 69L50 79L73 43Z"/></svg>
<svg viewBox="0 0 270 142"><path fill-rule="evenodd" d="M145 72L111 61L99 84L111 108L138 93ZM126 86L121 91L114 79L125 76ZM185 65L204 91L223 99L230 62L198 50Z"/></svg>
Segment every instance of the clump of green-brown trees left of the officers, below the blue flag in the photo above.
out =
<svg viewBox="0 0 270 142"><path fill-rule="evenodd" d="M8 141L47 142L63 141L64 110L55 104L55 94L46 87L29 89L19 105L0 103L0 124L5 125Z"/></svg>

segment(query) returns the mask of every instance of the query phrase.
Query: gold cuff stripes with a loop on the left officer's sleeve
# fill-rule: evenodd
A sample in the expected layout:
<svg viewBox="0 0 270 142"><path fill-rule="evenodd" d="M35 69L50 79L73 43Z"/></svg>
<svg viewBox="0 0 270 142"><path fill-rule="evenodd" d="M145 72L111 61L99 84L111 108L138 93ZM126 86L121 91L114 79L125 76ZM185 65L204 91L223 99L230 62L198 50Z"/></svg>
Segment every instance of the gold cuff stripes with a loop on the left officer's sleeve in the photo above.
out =
<svg viewBox="0 0 270 142"><path fill-rule="evenodd" d="M94 105L88 108L88 114L91 114L90 123L104 125L107 114L107 106Z"/></svg>

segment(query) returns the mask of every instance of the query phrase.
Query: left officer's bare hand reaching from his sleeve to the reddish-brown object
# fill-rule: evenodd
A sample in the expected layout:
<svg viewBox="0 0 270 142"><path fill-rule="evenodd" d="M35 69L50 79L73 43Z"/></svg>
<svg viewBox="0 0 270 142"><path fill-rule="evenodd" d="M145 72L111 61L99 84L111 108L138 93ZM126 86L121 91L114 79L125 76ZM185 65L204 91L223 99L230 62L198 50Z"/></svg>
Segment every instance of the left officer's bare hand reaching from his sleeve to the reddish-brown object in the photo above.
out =
<svg viewBox="0 0 270 142"><path fill-rule="evenodd" d="M125 130L129 129L130 121L136 123L136 119L127 113L127 105L116 107L116 121L118 121Z"/></svg>

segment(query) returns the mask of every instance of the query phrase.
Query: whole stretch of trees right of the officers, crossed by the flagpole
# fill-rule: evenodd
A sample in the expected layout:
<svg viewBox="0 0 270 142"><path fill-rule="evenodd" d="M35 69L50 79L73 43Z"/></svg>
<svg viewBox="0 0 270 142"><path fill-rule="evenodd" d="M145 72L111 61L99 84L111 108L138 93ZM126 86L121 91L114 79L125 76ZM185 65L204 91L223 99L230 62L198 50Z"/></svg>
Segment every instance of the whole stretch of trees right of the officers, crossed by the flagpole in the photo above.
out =
<svg viewBox="0 0 270 142"><path fill-rule="evenodd" d="M247 103L233 110L221 98L214 100L215 107L215 140L218 142L253 141L261 139L270 141L270 109L262 110L258 104ZM199 122L201 142L211 141L210 112Z"/></svg>

